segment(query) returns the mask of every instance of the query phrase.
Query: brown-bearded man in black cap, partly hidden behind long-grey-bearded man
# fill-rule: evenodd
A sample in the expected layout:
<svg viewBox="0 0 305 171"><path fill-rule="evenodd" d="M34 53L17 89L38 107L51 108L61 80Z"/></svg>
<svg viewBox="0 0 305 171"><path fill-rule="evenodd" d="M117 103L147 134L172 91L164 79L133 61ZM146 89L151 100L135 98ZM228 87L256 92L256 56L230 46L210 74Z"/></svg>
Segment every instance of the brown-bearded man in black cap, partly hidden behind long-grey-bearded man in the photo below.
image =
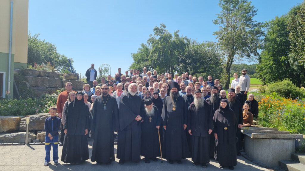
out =
<svg viewBox="0 0 305 171"><path fill-rule="evenodd" d="M216 86L211 87L211 97L207 98L206 101L210 103L212 114L214 116L214 113L217 109L219 109L219 103L220 98L218 95L218 88ZM215 137L213 134L210 136L210 158L214 159L215 155Z"/></svg>

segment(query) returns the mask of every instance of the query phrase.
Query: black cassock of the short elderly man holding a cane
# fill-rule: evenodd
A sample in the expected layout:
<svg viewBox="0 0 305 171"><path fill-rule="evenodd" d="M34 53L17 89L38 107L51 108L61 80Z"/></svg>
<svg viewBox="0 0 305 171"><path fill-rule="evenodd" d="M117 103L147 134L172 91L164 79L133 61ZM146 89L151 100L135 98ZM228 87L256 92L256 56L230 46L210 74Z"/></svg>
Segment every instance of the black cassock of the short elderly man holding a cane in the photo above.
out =
<svg viewBox="0 0 305 171"><path fill-rule="evenodd" d="M160 156L157 126L160 126L159 129L162 129L161 115L156 106L153 106L152 110L154 110L154 114L151 116L151 122L149 122L149 116L146 113L142 116L141 155L147 159Z"/></svg>

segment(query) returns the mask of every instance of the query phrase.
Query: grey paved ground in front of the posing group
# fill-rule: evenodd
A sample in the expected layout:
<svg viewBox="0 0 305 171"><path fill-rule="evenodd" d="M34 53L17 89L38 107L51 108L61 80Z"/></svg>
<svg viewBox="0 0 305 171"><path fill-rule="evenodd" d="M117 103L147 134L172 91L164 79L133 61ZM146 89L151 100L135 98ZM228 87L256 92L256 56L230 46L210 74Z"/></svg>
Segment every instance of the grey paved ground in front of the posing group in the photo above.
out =
<svg viewBox="0 0 305 171"><path fill-rule="evenodd" d="M88 145L89 157L91 156L92 146ZM114 146L115 152L117 145ZM62 147L59 147L59 159L61 156ZM51 159L52 159L52 149L51 149ZM228 168L220 169L217 161L212 160L208 164L207 168L202 168L201 166L192 166L191 159L182 160L182 164L169 164L167 161L161 163L161 160L157 162L150 161L149 164L145 163L143 160L139 163L125 162L124 165L120 165L118 159L111 162L111 164L106 165L96 165L95 162L90 162L88 159L85 163L80 165L70 165L59 161L57 166L53 165L51 161L49 166L43 166L45 160L45 146L44 145L15 145L15 146L0 146L0 171L31 171L31 170L117 170L117 171L179 171L179 170L228 170ZM238 171L269 171L268 169L262 168L249 160L243 158L242 156L237 156L237 166L235 170Z"/></svg>

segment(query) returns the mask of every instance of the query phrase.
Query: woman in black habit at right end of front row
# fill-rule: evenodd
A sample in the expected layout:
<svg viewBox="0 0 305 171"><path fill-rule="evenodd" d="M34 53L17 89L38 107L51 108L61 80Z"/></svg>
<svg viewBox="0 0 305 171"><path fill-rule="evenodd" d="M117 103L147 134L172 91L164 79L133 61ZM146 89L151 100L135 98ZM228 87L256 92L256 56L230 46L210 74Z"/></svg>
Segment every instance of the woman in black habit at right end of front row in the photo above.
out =
<svg viewBox="0 0 305 171"><path fill-rule="evenodd" d="M220 168L229 166L233 170L237 164L236 158L236 128L237 120L233 110L228 106L227 100L220 101L220 107L216 110L214 122L214 136L217 140L216 157Z"/></svg>

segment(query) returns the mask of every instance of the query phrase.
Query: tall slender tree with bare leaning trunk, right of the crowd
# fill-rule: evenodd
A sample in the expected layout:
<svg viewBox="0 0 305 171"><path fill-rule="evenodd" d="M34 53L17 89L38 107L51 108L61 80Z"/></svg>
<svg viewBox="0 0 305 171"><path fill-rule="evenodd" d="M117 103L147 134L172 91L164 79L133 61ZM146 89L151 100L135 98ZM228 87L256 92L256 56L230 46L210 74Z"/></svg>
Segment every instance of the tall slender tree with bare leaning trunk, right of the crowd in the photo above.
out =
<svg viewBox="0 0 305 171"><path fill-rule="evenodd" d="M246 0L220 0L222 11L217 14L213 23L220 25L214 32L218 45L224 52L224 72L221 82L228 88L230 84L230 69L233 62L240 58L258 57L263 31L262 23L253 20L257 10Z"/></svg>

